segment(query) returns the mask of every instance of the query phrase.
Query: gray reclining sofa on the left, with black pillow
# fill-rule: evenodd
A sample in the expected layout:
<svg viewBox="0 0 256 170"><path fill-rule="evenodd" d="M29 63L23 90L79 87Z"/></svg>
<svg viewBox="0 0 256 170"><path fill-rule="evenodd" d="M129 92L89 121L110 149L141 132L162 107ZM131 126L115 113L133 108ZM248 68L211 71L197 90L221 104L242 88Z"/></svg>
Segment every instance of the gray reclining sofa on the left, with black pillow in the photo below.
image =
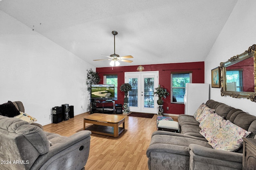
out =
<svg viewBox="0 0 256 170"><path fill-rule="evenodd" d="M24 112L22 102L13 103ZM89 155L90 134L90 131L80 131L64 137L43 131L37 123L29 124L0 115L0 169L84 169Z"/></svg>

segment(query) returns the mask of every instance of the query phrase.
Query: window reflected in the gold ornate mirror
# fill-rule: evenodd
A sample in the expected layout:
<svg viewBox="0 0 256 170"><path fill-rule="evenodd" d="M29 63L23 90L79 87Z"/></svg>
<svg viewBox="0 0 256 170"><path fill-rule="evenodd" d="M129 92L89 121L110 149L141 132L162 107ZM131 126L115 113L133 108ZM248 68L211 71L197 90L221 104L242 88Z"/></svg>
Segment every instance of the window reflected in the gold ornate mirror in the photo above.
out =
<svg viewBox="0 0 256 170"><path fill-rule="evenodd" d="M227 91L243 91L243 71L242 70L227 70L226 71L226 81L227 81Z"/></svg>

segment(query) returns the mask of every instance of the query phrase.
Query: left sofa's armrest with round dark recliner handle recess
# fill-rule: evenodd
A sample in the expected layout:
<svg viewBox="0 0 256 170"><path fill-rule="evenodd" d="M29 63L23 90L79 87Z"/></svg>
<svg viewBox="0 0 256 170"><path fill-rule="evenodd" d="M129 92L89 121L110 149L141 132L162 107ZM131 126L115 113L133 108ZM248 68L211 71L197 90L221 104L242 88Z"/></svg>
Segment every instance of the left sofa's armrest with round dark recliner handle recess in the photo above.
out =
<svg viewBox="0 0 256 170"><path fill-rule="evenodd" d="M49 167L51 167L50 169L58 169L60 164L68 163L68 161L63 163L63 159L70 159L70 162L73 162L72 165L65 165L66 169L74 169L76 166L77 168L85 166L90 149L90 135L91 131L79 131L58 143L55 143L50 147L48 153L40 155L37 158L31 170L38 170L40 168L45 169Z"/></svg>

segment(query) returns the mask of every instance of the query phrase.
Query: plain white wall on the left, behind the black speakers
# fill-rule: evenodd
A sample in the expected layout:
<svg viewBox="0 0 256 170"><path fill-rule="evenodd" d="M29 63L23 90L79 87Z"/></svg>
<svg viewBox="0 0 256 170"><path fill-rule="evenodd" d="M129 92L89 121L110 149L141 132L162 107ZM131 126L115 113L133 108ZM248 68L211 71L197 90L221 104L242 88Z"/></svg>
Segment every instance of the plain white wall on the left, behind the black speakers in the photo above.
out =
<svg viewBox="0 0 256 170"><path fill-rule="evenodd" d="M0 10L0 104L22 101L42 125L51 123L54 106L84 113L88 68L96 69Z"/></svg>

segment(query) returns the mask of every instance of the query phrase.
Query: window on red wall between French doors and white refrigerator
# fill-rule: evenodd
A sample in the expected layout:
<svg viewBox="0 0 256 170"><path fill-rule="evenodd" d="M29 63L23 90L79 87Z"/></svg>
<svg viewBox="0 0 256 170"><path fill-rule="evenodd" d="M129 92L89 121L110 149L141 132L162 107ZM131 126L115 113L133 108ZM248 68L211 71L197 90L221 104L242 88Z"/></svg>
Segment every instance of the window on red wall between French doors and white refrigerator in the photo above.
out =
<svg viewBox="0 0 256 170"><path fill-rule="evenodd" d="M171 103L184 104L185 84L192 82L192 73L171 74Z"/></svg>

